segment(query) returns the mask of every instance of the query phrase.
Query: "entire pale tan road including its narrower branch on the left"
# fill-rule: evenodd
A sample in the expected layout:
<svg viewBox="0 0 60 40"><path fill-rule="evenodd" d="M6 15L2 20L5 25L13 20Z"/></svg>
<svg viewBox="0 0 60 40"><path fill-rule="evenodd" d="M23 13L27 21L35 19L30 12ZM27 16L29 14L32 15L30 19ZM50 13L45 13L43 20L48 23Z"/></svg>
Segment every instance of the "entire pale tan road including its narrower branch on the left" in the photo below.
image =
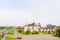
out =
<svg viewBox="0 0 60 40"><path fill-rule="evenodd" d="M6 31L7 33L8 31ZM7 35L7 34L6 34ZM19 35L15 29L14 35L7 35L10 37L19 37L21 36L22 39L16 39L16 40L60 40L60 37L54 37L52 35Z"/></svg>

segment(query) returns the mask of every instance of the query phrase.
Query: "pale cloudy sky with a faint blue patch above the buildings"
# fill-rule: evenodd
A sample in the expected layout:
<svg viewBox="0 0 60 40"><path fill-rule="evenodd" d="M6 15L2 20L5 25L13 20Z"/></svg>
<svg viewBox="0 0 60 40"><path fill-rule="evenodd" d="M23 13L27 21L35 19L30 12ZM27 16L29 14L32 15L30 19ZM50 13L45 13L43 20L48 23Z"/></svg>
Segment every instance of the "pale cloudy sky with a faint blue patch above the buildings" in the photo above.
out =
<svg viewBox="0 0 60 40"><path fill-rule="evenodd" d="M60 25L60 0L0 0L0 26L33 22Z"/></svg>

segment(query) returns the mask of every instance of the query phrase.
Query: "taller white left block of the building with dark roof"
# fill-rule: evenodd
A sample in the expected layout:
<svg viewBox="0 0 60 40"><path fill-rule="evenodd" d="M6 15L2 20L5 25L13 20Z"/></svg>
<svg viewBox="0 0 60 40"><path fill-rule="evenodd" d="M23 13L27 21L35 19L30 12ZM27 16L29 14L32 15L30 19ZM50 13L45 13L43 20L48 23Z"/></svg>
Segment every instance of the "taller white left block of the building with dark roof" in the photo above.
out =
<svg viewBox="0 0 60 40"><path fill-rule="evenodd" d="M40 23L38 23L38 25L36 25L35 23L32 24L28 24L24 26L24 32L26 32L28 29L33 32L33 31L39 31L39 29L41 28Z"/></svg>

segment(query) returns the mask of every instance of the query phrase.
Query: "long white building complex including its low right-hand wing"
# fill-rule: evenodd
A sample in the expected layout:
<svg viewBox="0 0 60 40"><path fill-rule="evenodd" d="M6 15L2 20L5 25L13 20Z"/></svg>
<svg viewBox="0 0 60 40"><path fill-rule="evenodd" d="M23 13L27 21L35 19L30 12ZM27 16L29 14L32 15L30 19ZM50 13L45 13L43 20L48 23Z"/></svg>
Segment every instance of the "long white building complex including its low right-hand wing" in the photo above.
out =
<svg viewBox="0 0 60 40"><path fill-rule="evenodd" d="M28 29L33 32L33 31L54 31L55 25L48 24L47 27L41 27L40 23L31 23L28 25L24 26L24 32L26 32Z"/></svg>

